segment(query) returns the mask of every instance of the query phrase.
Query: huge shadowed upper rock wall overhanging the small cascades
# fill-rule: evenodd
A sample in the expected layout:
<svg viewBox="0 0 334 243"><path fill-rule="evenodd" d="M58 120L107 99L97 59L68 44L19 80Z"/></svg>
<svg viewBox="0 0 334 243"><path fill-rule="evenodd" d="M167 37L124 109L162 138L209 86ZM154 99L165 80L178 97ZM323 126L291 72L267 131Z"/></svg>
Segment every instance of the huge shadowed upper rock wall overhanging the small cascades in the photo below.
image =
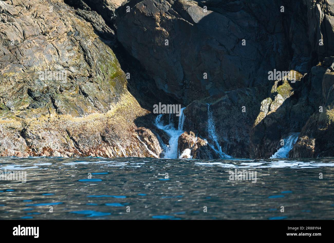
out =
<svg viewBox="0 0 334 243"><path fill-rule="evenodd" d="M281 13L279 7L285 4L287 12ZM118 12L117 36L158 88L189 103L226 90L267 85L268 70L287 69L289 62L306 71L310 46L307 33L298 29L306 20L289 14L291 8L306 13L306 6L288 1L281 5L145 0L130 12L125 12L126 5Z"/></svg>

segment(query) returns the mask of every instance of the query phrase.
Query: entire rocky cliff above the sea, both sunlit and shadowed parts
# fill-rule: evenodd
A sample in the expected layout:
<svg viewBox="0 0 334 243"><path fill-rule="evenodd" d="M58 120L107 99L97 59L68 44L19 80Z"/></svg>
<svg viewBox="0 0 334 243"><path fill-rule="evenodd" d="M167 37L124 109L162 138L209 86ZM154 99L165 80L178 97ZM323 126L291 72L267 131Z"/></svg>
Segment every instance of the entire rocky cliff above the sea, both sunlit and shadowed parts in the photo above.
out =
<svg viewBox="0 0 334 243"><path fill-rule="evenodd" d="M0 3L2 156L334 156L333 0Z"/></svg>

